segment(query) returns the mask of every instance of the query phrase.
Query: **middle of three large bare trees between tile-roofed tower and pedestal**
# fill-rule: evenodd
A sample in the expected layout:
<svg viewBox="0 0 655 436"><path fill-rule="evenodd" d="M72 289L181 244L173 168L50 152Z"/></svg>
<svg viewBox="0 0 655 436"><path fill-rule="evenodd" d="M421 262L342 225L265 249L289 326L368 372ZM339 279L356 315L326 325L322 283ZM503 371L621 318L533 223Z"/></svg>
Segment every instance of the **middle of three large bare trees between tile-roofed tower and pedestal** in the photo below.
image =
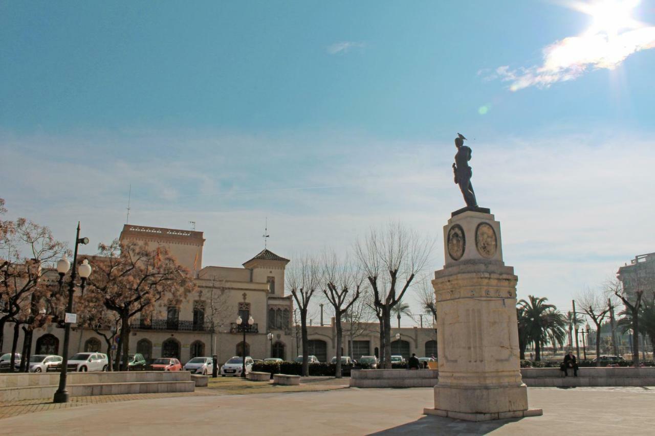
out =
<svg viewBox="0 0 655 436"><path fill-rule="evenodd" d="M339 261L333 251L324 253L322 258L322 290L327 301L332 305L337 328L337 367L335 376L341 378L341 348L343 344L343 316L360 297L364 277L358 274L356 267L346 258ZM354 294L352 291L354 290ZM350 291L350 295L348 292Z"/></svg>

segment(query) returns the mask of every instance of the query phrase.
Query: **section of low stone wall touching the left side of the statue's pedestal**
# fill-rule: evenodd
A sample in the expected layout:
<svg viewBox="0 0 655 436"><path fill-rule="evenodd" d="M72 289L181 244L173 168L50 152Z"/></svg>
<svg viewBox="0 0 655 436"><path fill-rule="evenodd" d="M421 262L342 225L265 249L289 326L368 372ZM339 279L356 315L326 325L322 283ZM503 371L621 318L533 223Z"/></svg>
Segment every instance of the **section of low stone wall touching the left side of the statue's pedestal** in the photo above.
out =
<svg viewBox="0 0 655 436"><path fill-rule="evenodd" d="M436 369L354 369L352 388L431 388L437 384Z"/></svg>

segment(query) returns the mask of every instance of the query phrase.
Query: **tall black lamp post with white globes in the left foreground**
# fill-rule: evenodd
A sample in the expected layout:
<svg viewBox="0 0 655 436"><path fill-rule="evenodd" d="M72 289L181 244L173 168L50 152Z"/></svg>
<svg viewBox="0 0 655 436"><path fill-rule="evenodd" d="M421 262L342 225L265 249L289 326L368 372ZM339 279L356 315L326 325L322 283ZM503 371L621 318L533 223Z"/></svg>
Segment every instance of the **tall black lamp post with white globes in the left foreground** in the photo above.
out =
<svg viewBox="0 0 655 436"><path fill-rule="evenodd" d="M62 371L59 373L59 388L54 393L52 398L53 403L68 403L68 390L66 389L66 377L68 374L68 343L71 336L71 323L67 322L65 319L66 314L73 313L73 292L75 291L75 276L76 276L76 266L77 266L77 246L79 244L88 244L88 238L80 238L80 223L77 222L77 234L75 235L75 250L73 251L73 270L71 270L71 282L68 287L68 304L66 306L66 312L64 314L64 352L62 353ZM57 272L59 273L59 287L62 288L64 284L64 276L68 272L71 263L66 259L66 256L62 257L60 261L57 262ZM88 264L88 261L84 259L84 262L77 268L79 270L80 278L82 283L80 287L84 292L84 286L86 285L86 279L91 275L91 265Z"/></svg>

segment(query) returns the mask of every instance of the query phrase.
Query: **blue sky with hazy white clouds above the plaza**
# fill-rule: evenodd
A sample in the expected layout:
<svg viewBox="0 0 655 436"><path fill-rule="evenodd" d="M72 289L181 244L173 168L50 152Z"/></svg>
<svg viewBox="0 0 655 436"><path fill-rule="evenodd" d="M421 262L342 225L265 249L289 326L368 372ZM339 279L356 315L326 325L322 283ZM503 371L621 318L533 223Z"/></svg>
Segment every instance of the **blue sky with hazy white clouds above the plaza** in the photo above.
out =
<svg viewBox="0 0 655 436"><path fill-rule="evenodd" d="M519 298L566 312L655 251L651 48L650 0L0 0L0 197L94 253L131 192L205 266L398 220L431 274L461 132Z"/></svg>

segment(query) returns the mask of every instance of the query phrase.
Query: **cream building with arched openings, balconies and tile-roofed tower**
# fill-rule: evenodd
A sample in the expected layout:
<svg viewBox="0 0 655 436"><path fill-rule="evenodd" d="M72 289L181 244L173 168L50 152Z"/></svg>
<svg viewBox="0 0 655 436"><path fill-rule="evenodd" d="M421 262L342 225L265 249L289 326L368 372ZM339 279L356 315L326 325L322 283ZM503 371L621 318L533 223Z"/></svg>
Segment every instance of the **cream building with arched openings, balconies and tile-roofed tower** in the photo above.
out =
<svg viewBox="0 0 655 436"><path fill-rule="evenodd" d="M202 232L172 228L124 225L121 242L147 243L153 249L165 247L176 261L191 271L196 291L179 306L159 304L149 319L133 318L130 324L130 354L147 359L178 357L182 362L192 357L218 355L225 362L234 355L263 359L280 357L291 360L302 354L299 326L293 323L293 297L286 295L284 272L288 259L264 249L242 267L202 266L204 237ZM246 328L246 342L236 319L253 325ZM352 326L350 326L352 327ZM309 326L310 353L320 361L336 355L336 327ZM362 355L379 355L379 324L362 323L356 331L344 325L344 355L358 359ZM352 335L348 334L352 332ZM105 335L116 337L114 332ZM269 338L269 333L271 337ZM400 333L400 340L396 334ZM5 345L11 344L13 327L5 326ZM36 329L31 354L62 354L64 329L52 323ZM119 344L114 339L113 348ZM75 352L105 352L107 342L90 329L73 325L69 355ZM5 347L7 348L7 347ZM22 350L22 340L18 351ZM9 352L9 350L1 350ZM434 329L403 327L392 329L392 354L409 357L436 355Z"/></svg>

